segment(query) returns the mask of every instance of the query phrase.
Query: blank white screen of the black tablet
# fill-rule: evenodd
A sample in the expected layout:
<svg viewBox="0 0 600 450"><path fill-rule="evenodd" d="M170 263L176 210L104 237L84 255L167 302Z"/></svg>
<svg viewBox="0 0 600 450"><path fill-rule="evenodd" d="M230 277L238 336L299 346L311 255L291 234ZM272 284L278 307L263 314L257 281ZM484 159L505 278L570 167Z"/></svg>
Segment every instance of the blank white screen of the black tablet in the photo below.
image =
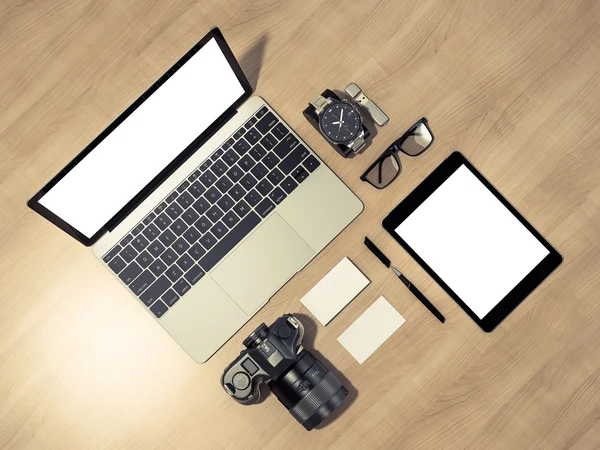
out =
<svg viewBox="0 0 600 450"><path fill-rule="evenodd" d="M480 319L550 253L464 165L395 231Z"/></svg>

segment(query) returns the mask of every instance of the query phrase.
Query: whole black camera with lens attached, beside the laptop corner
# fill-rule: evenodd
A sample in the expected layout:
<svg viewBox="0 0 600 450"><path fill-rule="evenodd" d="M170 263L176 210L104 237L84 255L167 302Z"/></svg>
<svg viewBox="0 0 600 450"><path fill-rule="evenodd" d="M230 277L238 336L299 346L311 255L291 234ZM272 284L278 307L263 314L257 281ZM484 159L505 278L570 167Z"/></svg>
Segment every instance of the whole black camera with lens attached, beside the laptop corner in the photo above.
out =
<svg viewBox="0 0 600 450"><path fill-rule="evenodd" d="M264 323L244 339L246 347L223 373L221 385L238 403L251 405L266 383L290 414L307 430L325 419L348 390L302 347L304 327L286 314L270 327Z"/></svg>

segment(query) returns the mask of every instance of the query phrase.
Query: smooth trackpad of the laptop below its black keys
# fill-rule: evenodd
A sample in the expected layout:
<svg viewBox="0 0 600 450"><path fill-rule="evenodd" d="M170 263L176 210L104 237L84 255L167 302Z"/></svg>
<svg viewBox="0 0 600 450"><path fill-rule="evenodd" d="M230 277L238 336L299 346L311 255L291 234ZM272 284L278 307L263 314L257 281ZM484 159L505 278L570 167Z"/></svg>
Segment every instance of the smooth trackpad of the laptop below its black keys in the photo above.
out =
<svg viewBox="0 0 600 450"><path fill-rule="evenodd" d="M211 277L251 315L313 254L313 249L274 213L211 273Z"/></svg>

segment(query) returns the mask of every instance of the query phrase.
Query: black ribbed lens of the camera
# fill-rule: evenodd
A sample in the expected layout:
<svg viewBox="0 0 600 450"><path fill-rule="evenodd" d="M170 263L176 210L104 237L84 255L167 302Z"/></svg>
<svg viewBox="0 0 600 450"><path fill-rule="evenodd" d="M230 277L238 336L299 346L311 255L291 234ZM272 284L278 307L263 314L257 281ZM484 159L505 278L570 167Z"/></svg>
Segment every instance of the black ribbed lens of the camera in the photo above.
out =
<svg viewBox="0 0 600 450"><path fill-rule="evenodd" d="M348 395L348 390L310 352L302 350L298 361L277 381L271 392L307 430L312 430Z"/></svg>

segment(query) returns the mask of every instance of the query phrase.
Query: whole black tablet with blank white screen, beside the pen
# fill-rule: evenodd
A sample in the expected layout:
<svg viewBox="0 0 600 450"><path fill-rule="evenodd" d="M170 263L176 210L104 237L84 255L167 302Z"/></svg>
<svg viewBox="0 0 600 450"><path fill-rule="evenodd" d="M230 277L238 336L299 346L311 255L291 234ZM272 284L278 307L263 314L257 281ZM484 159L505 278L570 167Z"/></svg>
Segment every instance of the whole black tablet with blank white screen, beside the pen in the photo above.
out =
<svg viewBox="0 0 600 450"><path fill-rule="evenodd" d="M383 227L487 332L562 262L459 152L417 186Z"/></svg>

